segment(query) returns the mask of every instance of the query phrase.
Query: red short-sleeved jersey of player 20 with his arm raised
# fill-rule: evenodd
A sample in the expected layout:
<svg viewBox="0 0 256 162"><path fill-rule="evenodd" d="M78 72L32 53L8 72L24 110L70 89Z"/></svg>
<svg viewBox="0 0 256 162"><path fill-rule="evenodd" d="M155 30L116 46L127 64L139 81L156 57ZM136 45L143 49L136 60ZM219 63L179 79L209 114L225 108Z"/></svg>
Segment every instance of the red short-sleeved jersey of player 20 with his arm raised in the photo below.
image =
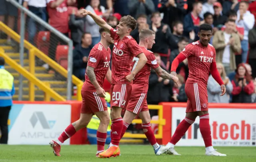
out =
<svg viewBox="0 0 256 162"><path fill-rule="evenodd" d="M120 39L113 28L110 35L114 39L112 53L112 84L131 84L126 76L131 73L132 59L142 53L137 42L132 36L125 36Z"/></svg>

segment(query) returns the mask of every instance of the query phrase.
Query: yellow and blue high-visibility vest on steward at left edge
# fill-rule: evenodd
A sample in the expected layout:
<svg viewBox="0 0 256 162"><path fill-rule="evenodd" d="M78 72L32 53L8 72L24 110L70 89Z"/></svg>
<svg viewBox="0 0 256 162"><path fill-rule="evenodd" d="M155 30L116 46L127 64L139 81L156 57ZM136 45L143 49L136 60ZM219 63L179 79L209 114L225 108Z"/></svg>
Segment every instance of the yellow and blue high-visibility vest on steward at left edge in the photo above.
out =
<svg viewBox="0 0 256 162"><path fill-rule="evenodd" d="M12 99L12 86L14 78L7 70L0 68L0 92L7 92L6 96L0 96L0 100ZM9 92L9 93L8 93Z"/></svg>

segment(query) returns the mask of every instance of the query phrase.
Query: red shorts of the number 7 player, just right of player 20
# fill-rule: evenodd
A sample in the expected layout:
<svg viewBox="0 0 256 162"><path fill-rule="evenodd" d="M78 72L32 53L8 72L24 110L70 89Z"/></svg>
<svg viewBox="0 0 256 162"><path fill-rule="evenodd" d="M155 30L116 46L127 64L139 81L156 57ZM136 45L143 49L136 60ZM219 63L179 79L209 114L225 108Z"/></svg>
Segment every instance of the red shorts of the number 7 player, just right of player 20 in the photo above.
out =
<svg viewBox="0 0 256 162"><path fill-rule="evenodd" d="M132 86L132 95L130 97L126 110L133 112L134 114L140 114L142 111L148 111L147 93L142 93L139 90L135 90Z"/></svg>

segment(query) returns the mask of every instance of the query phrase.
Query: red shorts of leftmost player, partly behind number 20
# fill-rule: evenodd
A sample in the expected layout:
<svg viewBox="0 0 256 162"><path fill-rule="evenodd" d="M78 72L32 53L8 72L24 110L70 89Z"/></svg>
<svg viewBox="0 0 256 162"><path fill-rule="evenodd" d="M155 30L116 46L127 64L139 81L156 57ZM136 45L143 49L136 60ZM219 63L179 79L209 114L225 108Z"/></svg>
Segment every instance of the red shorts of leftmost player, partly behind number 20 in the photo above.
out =
<svg viewBox="0 0 256 162"><path fill-rule="evenodd" d="M94 114L94 112L107 111L105 98L99 97L97 92L81 91L81 114Z"/></svg>

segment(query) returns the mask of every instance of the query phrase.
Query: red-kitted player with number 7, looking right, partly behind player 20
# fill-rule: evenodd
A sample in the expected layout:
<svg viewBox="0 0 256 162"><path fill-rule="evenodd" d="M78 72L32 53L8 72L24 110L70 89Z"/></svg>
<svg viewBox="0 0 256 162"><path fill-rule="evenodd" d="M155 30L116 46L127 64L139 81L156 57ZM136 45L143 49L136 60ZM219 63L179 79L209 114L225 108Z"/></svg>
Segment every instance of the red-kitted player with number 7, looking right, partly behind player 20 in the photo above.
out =
<svg viewBox="0 0 256 162"><path fill-rule="evenodd" d="M128 106L126 108L126 112L124 114L123 118L123 130L121 134L121 138L124 135L126 129L131 124L132 120L139 115L142 119L142 128L143 132L145 133L146 137L148 138L148 141L154 148L154 152L156 155L160 155L164 152L166 152L169 148L167 146L159 146L159 144L156 142L156 138L154 136L154 132L151 129L150 126L150 114L148 111L148 104L146 101L147 98L147 92L148 92L148 78L150 76L150 70L153 68L157 74L164 78L164 79L172 79L174 82L178 82L178 78L176 76L173 76L171 74L168 74L165 70L163 70L156 62L156 58L153 54L153 52L147 50L152 48L152 45L155 43L155 32L149 29L142 29L139 34L140 37L140 49L142 52L146 55L148 62L146 65L136 74L133 84L132 84L132 94L128 103ZM136 67L136 64L138 62L138 58L134 57L134 66Z"/></svg>

